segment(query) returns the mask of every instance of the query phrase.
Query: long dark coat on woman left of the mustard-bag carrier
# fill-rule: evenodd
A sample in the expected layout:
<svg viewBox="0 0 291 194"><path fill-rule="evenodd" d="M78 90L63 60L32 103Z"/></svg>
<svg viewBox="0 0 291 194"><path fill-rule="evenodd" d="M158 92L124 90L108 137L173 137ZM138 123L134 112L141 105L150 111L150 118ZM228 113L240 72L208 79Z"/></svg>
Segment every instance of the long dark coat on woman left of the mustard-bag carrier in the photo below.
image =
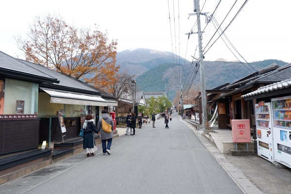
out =
<svg viewBox="0 0 291 194"><path fill-rule="evenodd" d="M93 148L95 146L95 140L93 136L93 131L98 133L94 120L86 120L87 126L83 128L84 130L84 137L83 137L83 149L86 148Z"/></svg>

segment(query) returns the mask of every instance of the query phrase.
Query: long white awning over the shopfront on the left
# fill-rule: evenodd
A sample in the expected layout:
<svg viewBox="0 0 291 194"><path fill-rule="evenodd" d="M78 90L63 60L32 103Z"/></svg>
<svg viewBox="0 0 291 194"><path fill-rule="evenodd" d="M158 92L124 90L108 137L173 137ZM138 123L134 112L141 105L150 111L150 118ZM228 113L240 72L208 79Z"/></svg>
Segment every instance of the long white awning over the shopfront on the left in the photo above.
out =
<svg viewBox="0 0 291 194"><path fill-rule="evenodd" d="M92 105L92 106L108 106L110 105L102 97L89 96L83 94L73 94L68 92L60 92L54 90L43 89L50 96L51 103L58 104L76 104L76 105Z"/></svg>

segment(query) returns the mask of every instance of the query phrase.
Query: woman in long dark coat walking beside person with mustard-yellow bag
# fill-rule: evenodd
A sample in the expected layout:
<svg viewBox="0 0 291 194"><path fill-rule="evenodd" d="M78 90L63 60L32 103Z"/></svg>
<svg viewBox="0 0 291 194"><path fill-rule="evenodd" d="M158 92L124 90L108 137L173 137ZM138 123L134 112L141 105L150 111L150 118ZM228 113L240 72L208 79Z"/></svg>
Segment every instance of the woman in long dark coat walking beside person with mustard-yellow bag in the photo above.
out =
<svg viewBox="0 0 291 194"><path fill-rule="evenodd" d="M94 151L97 150L97 147L95 144L94 132L98 133L98 130L92 115L88 114L86 116L82 127L84 131L83 149L86 149L87 157L95 156Z"/></svg>

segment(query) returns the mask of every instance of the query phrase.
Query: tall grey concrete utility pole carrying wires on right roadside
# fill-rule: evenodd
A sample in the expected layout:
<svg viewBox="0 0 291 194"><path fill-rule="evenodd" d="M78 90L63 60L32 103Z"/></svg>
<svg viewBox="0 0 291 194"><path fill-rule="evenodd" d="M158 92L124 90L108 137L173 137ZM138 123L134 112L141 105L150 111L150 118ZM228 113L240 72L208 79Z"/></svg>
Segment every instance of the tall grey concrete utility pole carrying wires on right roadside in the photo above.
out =
<svg viewBox="0 0 291 194"><path fill-rule="evenodd" d="M194 0L194 12L197 16L197 28L198 28L198 47L199 47L199 65L200 65L200 82L201 82L201 101L202 101L202 112L203 112L203 128L206 130L207 121L207 110L206 110L206 91L205 91L205 80L204 80L204 64L203 64L203 51L202 51L202 32L200 24L200 3L199 0Z"/></svg>

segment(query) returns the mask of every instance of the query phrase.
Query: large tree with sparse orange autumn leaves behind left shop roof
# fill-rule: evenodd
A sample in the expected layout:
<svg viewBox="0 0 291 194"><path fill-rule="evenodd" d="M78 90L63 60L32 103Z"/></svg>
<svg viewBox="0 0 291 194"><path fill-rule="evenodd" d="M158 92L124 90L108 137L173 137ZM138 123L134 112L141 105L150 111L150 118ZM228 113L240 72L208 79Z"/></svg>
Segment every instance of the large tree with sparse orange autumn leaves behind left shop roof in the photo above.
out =
<svg viewBox="0 0 291 194"><path fill-rule="evenodd" d="M61 16L37 16L27 38L16 38L27 61L45 65L109 91L115 81L116 40L97 29L68 25ZM110 92L110 91L109 91Z"/></svg>

